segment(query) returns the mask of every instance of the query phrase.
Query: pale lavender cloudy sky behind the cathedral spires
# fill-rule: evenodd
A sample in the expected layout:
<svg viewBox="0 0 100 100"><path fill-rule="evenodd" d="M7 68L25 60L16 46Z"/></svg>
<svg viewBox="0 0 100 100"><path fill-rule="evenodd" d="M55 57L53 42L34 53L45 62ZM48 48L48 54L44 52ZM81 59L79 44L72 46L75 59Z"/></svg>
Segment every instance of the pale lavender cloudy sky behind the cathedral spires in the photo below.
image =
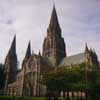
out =
<svg viewBox="0 0 100 100"><path fill-rule="evenodd" d="M19 65L29 40L32 52L42 52L54 3L67 56L84 52L87 42L100 60L100 0L0 0L0 62L15 34Z"/></svg>

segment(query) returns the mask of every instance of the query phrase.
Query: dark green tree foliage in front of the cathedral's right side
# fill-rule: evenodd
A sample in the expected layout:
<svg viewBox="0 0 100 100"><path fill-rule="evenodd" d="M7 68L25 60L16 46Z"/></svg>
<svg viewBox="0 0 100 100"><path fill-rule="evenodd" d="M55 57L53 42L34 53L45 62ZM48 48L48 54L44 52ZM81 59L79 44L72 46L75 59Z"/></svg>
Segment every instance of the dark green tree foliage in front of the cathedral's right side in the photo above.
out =
<svg viewBox="0 0 100 100"><path fill-rule="evenodd" d="M49 72L44 76L43 82L48 91L54 95L59 95L61 90L87 91L91 100L100 98L100 69L84 63L61 67L60 71Z"/></svg>

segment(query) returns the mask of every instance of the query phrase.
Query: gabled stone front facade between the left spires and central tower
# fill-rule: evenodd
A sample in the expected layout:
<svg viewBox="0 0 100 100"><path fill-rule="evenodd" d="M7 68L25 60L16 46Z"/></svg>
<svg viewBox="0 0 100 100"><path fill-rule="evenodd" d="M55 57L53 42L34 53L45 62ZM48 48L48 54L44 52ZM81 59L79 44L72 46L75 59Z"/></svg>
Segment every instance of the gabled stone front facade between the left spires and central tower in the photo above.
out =
<svg viewBox="0 0 100 100"><path fill-rule="evenodd" d="M33 54L25 66L23 95L39 96L40 66L40 56Z"/></svg>

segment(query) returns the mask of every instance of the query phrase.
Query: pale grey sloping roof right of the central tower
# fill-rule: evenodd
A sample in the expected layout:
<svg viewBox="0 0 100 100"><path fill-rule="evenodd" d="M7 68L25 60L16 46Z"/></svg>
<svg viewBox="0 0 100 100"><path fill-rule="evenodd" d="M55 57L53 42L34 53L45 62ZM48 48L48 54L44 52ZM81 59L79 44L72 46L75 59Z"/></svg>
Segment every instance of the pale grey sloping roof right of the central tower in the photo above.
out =
<svg viewBox="0 0 100 100"><path fill-rule="evenodd" d="M59 66L69 66L73 64L81 64L84 61L85 61L85 54L79 53L73 56L63 58Z"/></svg>

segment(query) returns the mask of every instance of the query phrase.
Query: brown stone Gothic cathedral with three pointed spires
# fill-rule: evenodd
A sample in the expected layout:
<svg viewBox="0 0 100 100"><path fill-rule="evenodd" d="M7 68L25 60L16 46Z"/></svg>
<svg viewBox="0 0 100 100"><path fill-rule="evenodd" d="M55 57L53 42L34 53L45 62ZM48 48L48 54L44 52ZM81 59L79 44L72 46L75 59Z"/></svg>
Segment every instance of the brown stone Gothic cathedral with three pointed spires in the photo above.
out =
<svg viewBox="0 0 100 100"><path fill-rule="evenodd" d="M40 84L43 75L56 67L70 66L87 62L98 65L98 58L87 45L83 53L66 56L66 46L62 37L55 6L53 7L47 36L43 42L42 54L31 53L30 42L22 62L22 69L18 70L16 54L16 36L5 59L6 84L5 93L17 96L43 96L46 86Z"/></svg>

